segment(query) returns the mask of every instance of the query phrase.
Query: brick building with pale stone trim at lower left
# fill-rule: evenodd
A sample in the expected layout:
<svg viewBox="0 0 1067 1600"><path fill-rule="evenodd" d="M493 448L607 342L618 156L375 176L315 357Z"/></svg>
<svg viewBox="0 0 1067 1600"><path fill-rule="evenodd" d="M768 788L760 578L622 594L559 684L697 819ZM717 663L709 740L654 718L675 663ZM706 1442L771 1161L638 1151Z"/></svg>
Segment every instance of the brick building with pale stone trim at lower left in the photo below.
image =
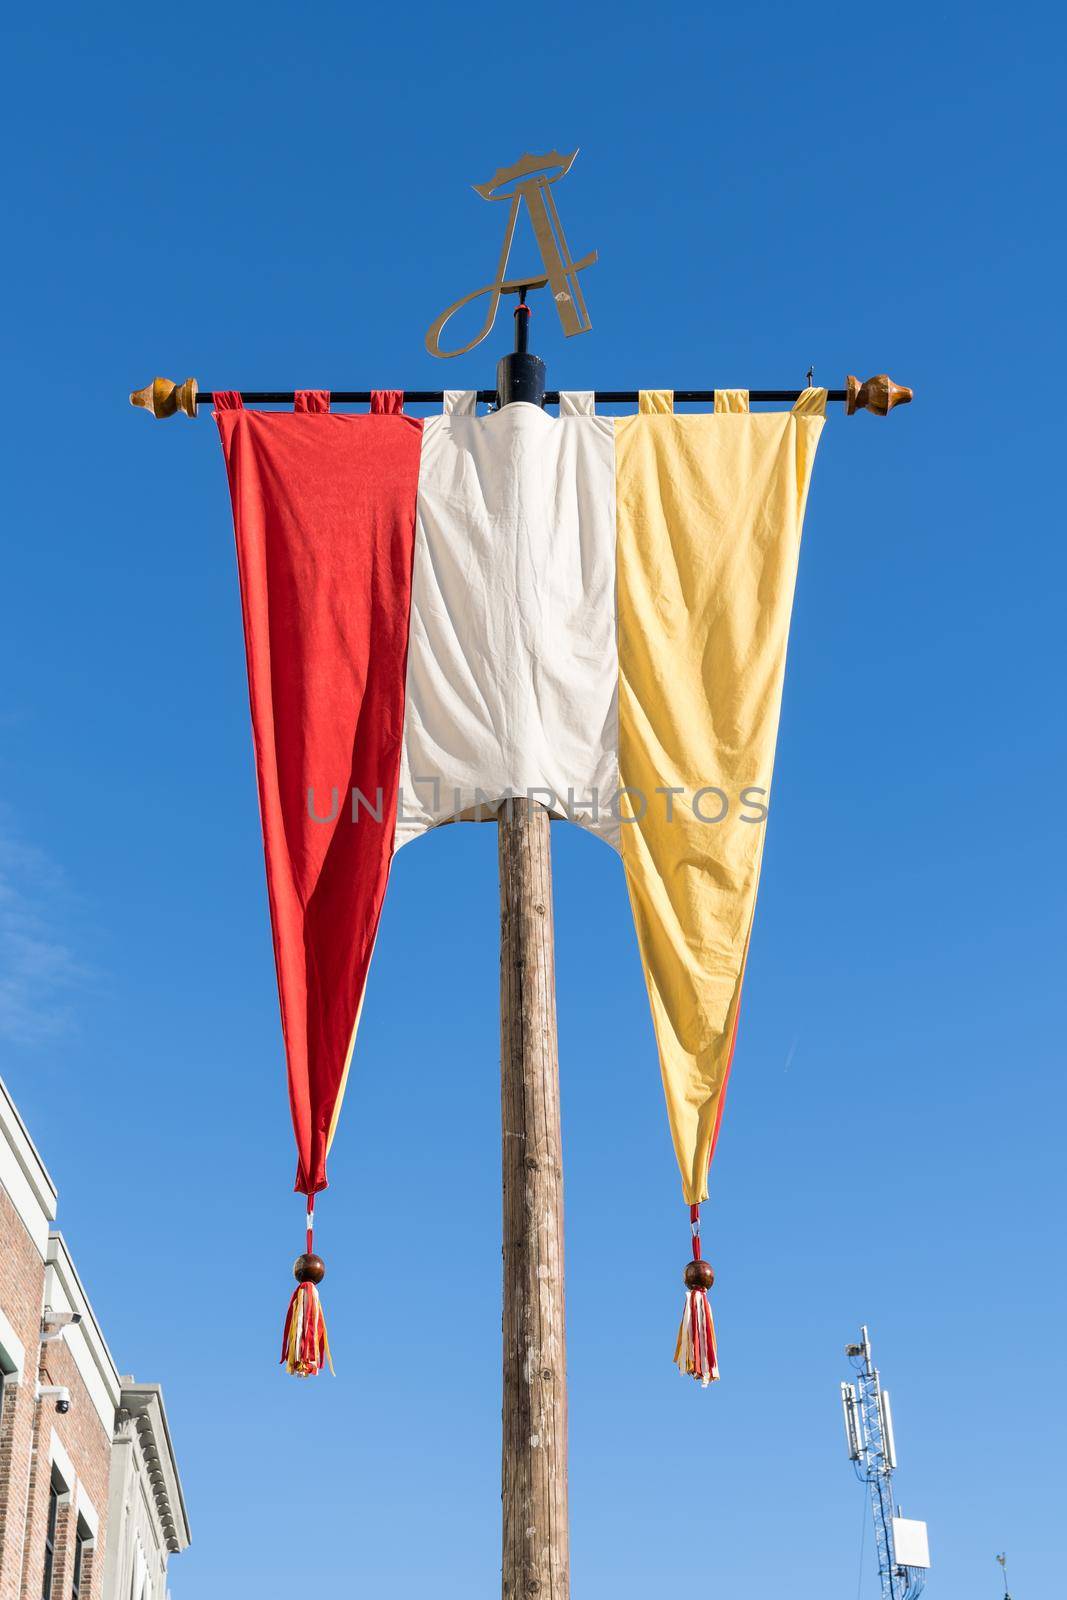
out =
<svg viewBox="0 0 1067 1600"><path fill-rule="evenodd" d="M165 1600L189 1522L158 1384L120 1376L0 1080L0 1600Z"/></svg>

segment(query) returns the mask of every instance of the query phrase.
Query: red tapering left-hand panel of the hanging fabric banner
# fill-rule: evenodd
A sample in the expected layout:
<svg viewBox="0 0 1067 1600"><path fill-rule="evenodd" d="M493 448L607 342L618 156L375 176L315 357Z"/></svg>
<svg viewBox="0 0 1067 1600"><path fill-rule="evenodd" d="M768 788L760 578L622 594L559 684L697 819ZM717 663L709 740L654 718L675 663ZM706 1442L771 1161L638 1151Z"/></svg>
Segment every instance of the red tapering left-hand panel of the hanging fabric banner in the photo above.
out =
<svg viewBox="0 0 1067 1600"><path fill-rule="evenodd" d="M333 413L309 429L293 413L224 408L218 424L296 1187L312 1195L326 1187L330 1125L394 851L422 422Z"/></svg>

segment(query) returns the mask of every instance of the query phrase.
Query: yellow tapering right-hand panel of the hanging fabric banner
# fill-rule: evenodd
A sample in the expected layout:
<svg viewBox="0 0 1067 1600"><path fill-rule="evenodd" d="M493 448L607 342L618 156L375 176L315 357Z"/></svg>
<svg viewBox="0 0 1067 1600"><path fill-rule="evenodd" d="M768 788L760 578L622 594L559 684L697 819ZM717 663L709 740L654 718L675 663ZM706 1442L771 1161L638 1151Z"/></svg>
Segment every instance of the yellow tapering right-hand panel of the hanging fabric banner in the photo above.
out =
<svg viewBox="0 0 1067 1600"><path fill-rule="evenodd" d="M691 1205L729 1069L821 432L789 411L616 419L622 862Z"/></svg>

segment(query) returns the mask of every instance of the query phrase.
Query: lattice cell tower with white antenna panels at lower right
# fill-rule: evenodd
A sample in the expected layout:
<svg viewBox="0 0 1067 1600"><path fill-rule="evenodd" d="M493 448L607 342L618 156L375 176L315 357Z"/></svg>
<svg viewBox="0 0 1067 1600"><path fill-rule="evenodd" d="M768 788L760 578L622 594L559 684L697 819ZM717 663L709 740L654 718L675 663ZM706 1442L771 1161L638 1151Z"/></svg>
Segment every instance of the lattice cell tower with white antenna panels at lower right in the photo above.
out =
<svg viewBox="0 0 1067 1600"><path fill-rule="evenodd" d="M929 1568L926 1523L901 1517L899 1506L894 1514L893 1411L889 1410L889 1390L881 1387L878 1368L870 1358L867 1328L862 1328L859 1344L845 1346L845 1354L856 1373L854 1382L841 1384L845 1440L856 1477L867 1485L870 1493L881 1600L918 1600L926 1587Z"/></svg>

